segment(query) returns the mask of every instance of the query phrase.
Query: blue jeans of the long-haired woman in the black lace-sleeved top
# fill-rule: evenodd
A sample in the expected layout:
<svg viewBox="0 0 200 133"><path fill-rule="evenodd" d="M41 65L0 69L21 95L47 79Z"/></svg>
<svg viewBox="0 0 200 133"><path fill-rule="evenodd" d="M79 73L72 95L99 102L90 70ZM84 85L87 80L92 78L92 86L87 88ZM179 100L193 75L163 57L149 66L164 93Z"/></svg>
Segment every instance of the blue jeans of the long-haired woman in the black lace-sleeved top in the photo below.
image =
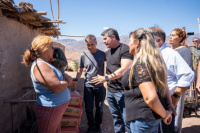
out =
<svg viewBox="0 0 200 133"><path fill-rule="evenodd" d="M132 133L158 133L158 127L161 119L147 120L137 119L130 122Z"/></svg>

